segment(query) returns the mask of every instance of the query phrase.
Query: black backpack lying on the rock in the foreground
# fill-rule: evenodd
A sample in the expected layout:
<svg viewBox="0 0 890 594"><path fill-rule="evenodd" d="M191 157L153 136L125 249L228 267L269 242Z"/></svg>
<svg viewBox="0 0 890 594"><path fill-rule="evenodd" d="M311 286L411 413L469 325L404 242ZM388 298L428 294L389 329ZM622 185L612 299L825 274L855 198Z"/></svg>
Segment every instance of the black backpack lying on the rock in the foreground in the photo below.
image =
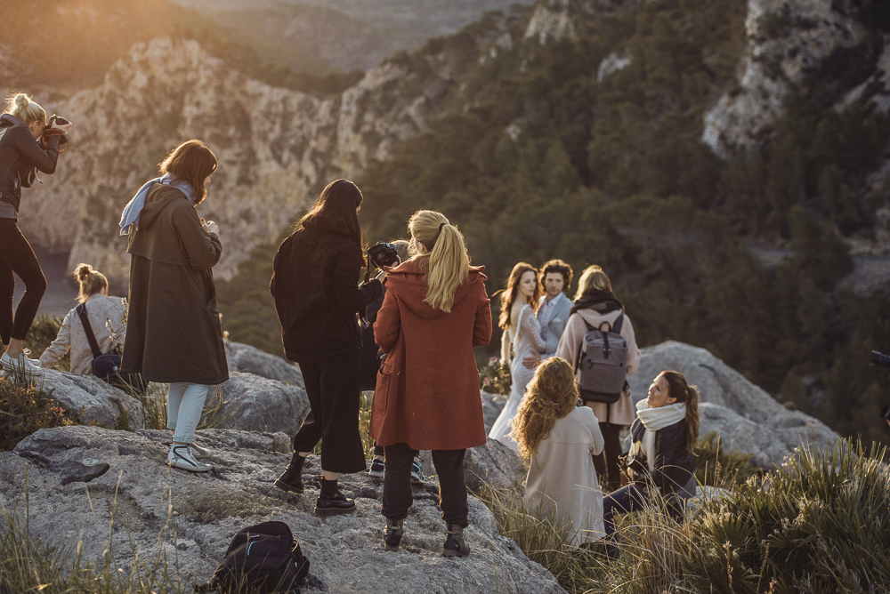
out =
<svg viewBox="0 0 890 594"><path fill-rule="evenodd" d="M251 592L286 594L309 574L309 559L303 557L284 522L263 522L247 526L232 537L225 558L216 567L210 582L196 585L196 592Z"/></svg>

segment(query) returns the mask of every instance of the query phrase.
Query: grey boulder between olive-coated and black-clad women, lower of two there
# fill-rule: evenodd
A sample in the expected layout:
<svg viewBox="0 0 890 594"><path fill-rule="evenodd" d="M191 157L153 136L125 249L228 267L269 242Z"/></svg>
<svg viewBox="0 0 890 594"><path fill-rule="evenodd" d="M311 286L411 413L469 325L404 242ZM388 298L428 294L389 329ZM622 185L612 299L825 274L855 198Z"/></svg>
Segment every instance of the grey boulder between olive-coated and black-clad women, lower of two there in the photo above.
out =
<svg viewBox="0 0 890 594"><path fill-rule="evenodd" d="M294 435L309 409L309 398L301 386L231 372L229 381L223 383L223 405L218 414L226 429Z"/></svg>

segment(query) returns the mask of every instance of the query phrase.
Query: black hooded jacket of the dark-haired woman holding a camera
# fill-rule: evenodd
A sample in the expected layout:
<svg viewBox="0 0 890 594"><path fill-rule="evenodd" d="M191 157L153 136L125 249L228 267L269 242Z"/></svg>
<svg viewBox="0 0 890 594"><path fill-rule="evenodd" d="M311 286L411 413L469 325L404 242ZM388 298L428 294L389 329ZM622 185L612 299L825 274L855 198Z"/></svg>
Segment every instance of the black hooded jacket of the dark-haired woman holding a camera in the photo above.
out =
<svg viewBox="0 0 890 594"><path fill-rule="evenodd" d="M288 359L321 363L360 352L356 314L383 294L376 279L357 285L363 264L352 237L323 217L279 245L269 291Z"/></svg>

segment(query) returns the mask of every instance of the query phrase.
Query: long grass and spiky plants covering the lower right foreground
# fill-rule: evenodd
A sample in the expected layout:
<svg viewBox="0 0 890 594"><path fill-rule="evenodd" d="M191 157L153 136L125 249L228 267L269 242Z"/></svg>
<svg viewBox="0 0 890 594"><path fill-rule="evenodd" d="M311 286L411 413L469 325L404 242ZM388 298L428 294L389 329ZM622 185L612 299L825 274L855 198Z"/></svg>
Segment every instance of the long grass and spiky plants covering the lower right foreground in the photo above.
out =
<svg viewBox="0 0 890 594"><path fill-rule="evenodd" d="M621 558L578 551L513 497L483 500L513 538L572 594L890 592L886 448L838 442L799 450L781 468L703 502L683 526L646 510L619 517Z"/></svg>

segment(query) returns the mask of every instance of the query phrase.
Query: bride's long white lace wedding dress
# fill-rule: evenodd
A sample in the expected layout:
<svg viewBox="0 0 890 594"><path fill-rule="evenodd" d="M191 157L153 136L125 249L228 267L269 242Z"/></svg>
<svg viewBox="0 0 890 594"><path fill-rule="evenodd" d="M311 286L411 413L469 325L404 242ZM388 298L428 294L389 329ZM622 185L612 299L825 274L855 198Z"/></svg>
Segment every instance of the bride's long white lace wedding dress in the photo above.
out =
<svg viewBox="0 0 890 594"><path fill-rule="evenodd" d="M513 449L514 452L519 452L519 445L513 437L506 436L513 429L510 422L516 416L516 411L525 395L525 387L529 385L531 377L535 374L534 369L522 365L522 359L531 357L535 353L545 352L547 344L541 339L541 325L538 324L538 318L535 317L535 312L530 306L522 306L519 311L519 323L516 326L516 331L512 327L507 328L501 337L501 361L509 362L510 378L513 382L510 385L510 398L506 401L498 420L491 426L489 437L497 439ZM514 357L511 357L511 350L515 354Z"/></svg>

